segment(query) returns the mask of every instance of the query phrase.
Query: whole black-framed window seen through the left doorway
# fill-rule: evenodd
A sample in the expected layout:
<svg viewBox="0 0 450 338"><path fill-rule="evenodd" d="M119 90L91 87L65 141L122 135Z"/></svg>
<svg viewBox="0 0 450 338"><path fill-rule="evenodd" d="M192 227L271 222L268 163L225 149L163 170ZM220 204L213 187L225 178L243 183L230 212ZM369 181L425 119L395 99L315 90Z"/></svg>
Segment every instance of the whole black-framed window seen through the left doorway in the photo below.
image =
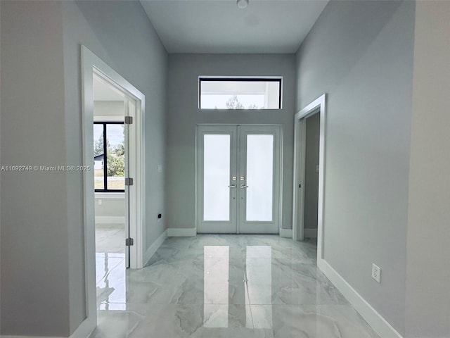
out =
<svg viewBox="0 0 450 338"><path fill-rule="evenodd" d="M125 191L123 122L94 122L94 187L96 192Z"/></svg>

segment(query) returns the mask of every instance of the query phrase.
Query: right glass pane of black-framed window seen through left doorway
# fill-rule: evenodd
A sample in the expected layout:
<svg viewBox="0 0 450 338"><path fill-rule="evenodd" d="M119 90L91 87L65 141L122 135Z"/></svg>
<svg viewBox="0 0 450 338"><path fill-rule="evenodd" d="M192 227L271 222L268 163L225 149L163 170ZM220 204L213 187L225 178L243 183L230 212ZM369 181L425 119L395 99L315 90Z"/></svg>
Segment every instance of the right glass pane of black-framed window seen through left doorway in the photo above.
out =
<svg viewBox="0 0 450 338"><path fill-rule="evenodd" d="M108 190L125 189L124 125L106 125Z"/></svg>

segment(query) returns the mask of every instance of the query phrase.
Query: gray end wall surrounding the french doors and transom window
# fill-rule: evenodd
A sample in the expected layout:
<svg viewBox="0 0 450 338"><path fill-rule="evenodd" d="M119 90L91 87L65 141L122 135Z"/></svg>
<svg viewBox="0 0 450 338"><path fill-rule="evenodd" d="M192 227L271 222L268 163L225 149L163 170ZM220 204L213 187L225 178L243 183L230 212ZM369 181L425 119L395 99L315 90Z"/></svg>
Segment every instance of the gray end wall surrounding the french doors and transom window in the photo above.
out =
<svg viewBox="0 0 450 338"><path fill-rule="evenodd" d="M205 111L198 109L198 76L283 76L283 109ZM195 227L195 125L197 123L266 123L284 126L283 227L292 227L293 115L295 56L207 55L169 56L167 120L168 227Z"/></svg>

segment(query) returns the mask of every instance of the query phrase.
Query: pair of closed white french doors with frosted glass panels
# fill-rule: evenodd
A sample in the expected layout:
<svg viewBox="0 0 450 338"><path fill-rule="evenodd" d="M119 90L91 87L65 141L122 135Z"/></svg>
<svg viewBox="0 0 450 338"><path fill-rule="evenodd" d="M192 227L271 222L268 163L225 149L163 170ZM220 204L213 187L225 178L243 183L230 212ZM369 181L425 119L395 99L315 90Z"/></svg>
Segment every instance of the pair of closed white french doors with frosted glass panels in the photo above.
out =
<svg viewBox="0 0 450 338"><path fill-rule="evenodd" d="M197 232L279 232L280 125L198 125L197 161Z"/></svg>

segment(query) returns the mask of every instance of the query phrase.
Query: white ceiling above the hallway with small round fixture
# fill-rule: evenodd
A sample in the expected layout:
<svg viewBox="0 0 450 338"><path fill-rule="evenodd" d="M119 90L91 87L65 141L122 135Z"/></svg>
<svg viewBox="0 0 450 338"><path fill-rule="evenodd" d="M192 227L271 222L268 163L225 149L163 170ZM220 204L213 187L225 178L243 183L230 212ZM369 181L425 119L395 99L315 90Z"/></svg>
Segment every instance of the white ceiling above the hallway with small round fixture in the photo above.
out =
<svg viewBox="0 0 450 338"><path fill-rule="evenodd" d="M295 53L328 0L141 0L169 53Z"/></svg>

